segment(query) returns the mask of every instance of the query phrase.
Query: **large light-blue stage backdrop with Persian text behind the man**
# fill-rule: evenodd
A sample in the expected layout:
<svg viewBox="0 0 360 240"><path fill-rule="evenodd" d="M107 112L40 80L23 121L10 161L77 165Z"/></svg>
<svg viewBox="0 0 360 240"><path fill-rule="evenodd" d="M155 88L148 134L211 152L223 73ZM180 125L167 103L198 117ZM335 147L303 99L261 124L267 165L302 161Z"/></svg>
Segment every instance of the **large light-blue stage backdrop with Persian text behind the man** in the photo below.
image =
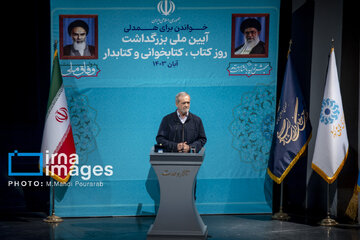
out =
<svg viewBox="0 0 360 240"><path fill-rule="evenodd" d="M197 176L199 212L271 212L266 167L279 6L280 0L52 0L51 40L59 41L82 169L55 187L56 214L155 214L159 185L149 153L180 91L191 95L190 111L202 118L208 138ZM265 50L237 55L244 42L238 28L247 18L259 19ZM88 28L87 56L69 51L78 49L68 29L76 20Z"/></svg>

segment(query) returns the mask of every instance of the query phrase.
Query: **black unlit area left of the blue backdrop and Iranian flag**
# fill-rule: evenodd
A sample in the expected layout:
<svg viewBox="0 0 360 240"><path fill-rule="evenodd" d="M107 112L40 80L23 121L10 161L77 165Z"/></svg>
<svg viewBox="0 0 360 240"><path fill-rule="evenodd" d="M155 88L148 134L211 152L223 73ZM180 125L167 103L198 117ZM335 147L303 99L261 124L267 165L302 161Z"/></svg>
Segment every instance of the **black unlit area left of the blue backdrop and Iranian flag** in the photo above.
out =
<svg viewBox="0 0 360 240"><path fill-rule="evenodd" d="M0 118L0 212L49 212L49 187L9 187L8 153L40 152L51 75L50 3L13 1L3 8L3 74Z"/></svg>

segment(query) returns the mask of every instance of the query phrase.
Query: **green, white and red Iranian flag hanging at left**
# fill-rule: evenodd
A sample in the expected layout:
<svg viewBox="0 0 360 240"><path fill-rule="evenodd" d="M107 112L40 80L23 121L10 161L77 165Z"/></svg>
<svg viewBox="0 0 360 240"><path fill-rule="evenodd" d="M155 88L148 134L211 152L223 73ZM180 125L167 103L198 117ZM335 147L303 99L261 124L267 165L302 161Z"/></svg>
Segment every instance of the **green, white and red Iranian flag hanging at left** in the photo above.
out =
<svg viewBox="0 0 360 240"><path fill-rule="evenodd" d="M66 102L58 51L53 59L47 114L41 145L43 172L55 180L66 183L76 155L69 109Z"/></svg>

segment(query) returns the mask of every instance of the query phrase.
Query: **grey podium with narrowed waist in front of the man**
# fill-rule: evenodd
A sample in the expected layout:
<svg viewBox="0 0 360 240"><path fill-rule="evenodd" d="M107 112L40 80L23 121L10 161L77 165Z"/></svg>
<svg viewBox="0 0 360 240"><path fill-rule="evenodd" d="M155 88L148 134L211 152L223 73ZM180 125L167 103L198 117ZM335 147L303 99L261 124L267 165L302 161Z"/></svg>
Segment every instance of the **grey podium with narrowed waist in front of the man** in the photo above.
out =
<svg viewBox="0 0 360 240"><path fill-rule="evenodd" d="M194 200L197 172L204 160L199 153L150 152L150 163L160 185L160 205L147 239L206 239L207 226Z"/></svg>

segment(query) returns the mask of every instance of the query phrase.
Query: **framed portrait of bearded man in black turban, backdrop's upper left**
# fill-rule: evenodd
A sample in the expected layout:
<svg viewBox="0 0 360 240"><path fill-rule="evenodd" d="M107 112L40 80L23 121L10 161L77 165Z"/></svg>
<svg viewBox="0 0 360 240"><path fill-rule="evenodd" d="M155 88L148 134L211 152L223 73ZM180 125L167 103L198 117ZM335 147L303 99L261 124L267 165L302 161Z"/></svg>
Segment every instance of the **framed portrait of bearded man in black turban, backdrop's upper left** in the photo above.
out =
<svg viewBox="0 0 360 240"><path fill-rule="evenodd" d="M97 15L60 15L60 59L98 59Z"/></svg>

